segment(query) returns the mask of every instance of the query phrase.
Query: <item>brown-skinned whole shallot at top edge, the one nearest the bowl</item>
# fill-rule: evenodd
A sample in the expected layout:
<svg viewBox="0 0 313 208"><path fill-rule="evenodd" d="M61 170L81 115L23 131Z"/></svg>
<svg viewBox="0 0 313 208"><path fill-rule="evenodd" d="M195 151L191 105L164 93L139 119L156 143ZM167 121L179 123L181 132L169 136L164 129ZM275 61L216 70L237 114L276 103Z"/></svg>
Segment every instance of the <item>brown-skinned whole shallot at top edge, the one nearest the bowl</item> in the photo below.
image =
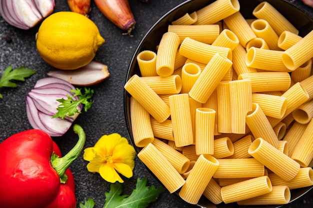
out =
<svg viewBox="0 0 313 208"><path fill-rule="evenodd" d="M128 0L94 0L98 9L122 30L127 30L130 34L134 29L134 20Z"/></svg>

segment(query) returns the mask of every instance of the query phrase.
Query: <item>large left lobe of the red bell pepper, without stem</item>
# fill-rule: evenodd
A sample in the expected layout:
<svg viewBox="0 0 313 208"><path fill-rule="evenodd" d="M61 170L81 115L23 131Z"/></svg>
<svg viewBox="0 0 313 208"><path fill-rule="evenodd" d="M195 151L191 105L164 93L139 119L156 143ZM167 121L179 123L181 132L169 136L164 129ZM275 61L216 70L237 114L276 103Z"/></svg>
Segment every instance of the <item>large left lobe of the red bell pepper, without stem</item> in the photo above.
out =
<svg viewBox="0 0 313 208"><path fill-rule="evenodd" d="M41 130L16 133L0 144L0 207L44 208L60 178L50 163L52 139Z"/></svg>

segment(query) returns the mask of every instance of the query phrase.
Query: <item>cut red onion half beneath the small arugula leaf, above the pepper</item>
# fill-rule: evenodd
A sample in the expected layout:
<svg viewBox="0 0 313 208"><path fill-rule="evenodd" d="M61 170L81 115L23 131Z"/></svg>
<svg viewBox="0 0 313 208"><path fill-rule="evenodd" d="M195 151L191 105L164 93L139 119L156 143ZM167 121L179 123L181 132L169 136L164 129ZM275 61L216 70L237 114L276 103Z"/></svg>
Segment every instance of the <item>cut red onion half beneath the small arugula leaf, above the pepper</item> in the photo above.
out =
<svg viewBox="0 0 313 208"><path fill-rule="evenodd" d="M32 128L40 129L51 137L62 136L79 115L66 116L64 119L52 118L60 104L57 99L67 99L67 94L73 96L70 90L75 87L62 79L48 77L39 79L33 89L26 95L26 115ZM76 96L73 98L78 100ZM81 111L82 105L78 106Z"/></svg>

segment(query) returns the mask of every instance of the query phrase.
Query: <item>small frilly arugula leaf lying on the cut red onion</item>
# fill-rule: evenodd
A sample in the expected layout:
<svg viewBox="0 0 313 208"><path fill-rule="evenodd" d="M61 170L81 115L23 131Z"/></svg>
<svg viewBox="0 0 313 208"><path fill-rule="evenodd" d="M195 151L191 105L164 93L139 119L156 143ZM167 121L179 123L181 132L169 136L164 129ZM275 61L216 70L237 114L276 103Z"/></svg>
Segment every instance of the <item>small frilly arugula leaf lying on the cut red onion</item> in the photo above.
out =
<svg viewBox="0 0 313 208"><path fill-rule="evenodd" d="M87 111L90 107L93 101L90 101L90 98L93 95L93 90L92 89L87 89L84 88L85 93L83 94L81 92L81 89L76 88L75 90L71 90L70 92L74 93L73 96L66 95L67 99L61 98L57 99L59 104L56 108L57 112L55 113L52 118L57 118L60 117L61 119L64 119L66 116L72 116L75 113L81 113L78 109L77 106L80 104L84 105L84 111ZM78 96L78 100L74 100L73 97Z"/></svg>

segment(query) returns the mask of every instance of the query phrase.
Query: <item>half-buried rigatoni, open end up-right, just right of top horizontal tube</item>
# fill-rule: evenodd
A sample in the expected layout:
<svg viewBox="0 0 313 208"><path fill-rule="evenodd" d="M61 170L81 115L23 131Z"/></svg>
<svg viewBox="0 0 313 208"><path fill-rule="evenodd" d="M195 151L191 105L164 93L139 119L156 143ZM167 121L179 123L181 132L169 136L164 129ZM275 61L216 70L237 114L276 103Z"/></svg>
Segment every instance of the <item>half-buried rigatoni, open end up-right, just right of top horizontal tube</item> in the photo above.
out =
<svg viewBox="0 0 313 208"><path fill-rule="evenodd" d="M223 29L211 45L227 47L233 50L238 44L238 37L231 30Z"/></svg>

